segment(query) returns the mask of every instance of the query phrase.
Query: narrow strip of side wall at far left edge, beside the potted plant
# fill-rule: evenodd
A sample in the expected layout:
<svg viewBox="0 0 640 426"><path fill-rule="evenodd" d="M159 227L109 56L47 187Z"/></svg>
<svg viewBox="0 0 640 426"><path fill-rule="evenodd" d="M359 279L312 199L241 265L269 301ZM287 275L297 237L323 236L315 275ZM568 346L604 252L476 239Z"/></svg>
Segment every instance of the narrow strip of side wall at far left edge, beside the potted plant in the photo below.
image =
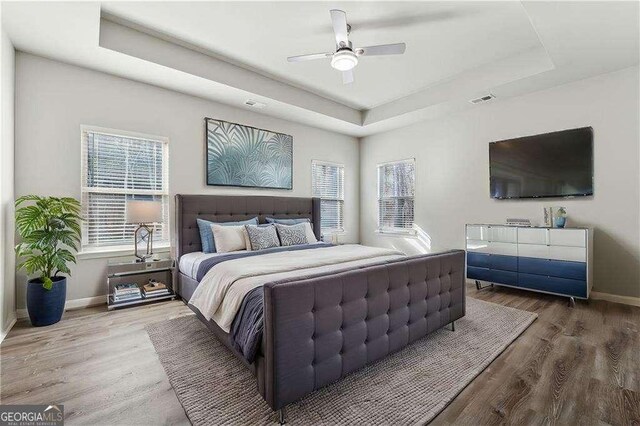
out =
<svg viewBox="0 0 640 426"><path fill-rule="evenodd" d="M14 78L15 50L2 31L0 46L0 335L15 319L15 255L13 208L13 145L14 145Z"/></svg>

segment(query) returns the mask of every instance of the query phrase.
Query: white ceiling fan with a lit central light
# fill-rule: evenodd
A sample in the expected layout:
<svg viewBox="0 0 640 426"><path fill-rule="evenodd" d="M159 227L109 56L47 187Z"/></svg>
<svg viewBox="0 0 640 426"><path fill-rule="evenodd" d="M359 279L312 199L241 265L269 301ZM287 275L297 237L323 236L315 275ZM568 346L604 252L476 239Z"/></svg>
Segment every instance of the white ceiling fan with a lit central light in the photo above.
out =
<svg viewBox="0 0 640 426"><path fill-rule="evenodd" d="M353 83L353 68L358 65L360 56L401 55L406 49L404 43L381 44L378 46L356 47L349 41L351 26L347 24L347 14L343 10L332 9L331 22L336 36L336 51L333 53L314 53L311 55L290 56L289 62L312 61L331 58L331 66L342 71L342 82Z"/></svg>

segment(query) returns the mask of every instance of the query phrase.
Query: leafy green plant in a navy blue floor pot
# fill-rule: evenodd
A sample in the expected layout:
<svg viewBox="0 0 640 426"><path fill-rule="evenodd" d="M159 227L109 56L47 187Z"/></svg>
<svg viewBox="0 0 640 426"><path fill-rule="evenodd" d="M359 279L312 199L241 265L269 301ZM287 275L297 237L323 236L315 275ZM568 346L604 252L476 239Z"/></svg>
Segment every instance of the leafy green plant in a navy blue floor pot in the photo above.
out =
<svg viewBox="0 0 640 426"><path fill-rule="evenodd" d="M18 270L37 274L27 283L27 311L36 327L62 318L69 263L80 243L80 203L74 198L26 195L16 200Z"/></svg>

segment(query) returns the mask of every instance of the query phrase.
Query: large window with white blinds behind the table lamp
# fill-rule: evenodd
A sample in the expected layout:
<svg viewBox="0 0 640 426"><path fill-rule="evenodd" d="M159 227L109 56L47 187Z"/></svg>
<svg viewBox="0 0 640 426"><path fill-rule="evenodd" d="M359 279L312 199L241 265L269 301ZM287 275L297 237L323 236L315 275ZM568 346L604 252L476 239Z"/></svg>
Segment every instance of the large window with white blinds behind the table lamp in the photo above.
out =
<svg viewBox="0 0 640 426"><path fill-rule="evenodd" d="M133 247L127 200L162 202L153 244L169 244L168 155L165 138L82 128L82 251Z"/></svg>

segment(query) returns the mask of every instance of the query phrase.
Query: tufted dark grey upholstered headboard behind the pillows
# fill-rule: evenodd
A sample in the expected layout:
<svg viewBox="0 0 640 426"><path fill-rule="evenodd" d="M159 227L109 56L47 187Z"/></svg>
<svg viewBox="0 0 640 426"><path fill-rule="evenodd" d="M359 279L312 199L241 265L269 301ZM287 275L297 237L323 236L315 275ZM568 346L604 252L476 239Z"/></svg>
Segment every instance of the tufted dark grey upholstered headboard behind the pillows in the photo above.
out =
<svg viewBox="0 0 640 426"><path fill-rule="evenodd" d="M201 251L197 218L213 222L233 222L258 216L309 218L313 232L320 239L320 199L302 197L267 197L249 195L176 195L176 256Z"/></svg>

